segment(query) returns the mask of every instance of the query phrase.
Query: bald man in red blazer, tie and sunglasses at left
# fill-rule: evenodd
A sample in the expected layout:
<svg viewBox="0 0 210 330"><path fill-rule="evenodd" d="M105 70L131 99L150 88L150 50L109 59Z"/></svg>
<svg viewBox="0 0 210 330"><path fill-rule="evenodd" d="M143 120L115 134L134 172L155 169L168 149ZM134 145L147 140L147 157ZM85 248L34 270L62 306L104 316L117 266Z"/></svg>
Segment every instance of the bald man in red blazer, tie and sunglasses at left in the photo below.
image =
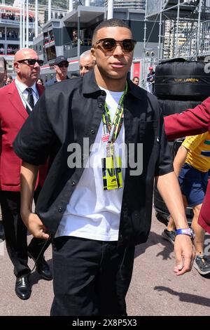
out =
<svg viewBox="0 0 210 330"><path fill-rule="evenodd" d="M43 252L50 243L45 244L45 240L33 238L27 246L27 227L20 216L22 161L13 152L15 136L44 90L43 86L36 84L40 65L43 65L43 61L38 59L34 50L24 48L18 51L14 60L17 77L0 90L0 202L6 248L16 276L15 293L21 299L31 296L28 255L36 260L41 254L36 263L36 270L44 279L52 279L50 268L43 257Z"/></svg>

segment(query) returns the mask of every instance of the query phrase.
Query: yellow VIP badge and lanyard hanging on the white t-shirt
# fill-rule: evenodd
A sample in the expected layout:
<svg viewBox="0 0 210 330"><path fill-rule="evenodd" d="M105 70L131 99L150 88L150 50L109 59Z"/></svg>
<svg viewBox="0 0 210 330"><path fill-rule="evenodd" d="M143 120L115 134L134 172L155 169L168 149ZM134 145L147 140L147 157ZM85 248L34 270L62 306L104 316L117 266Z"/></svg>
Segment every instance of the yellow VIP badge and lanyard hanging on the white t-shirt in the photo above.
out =
<svg viewBox="0 0 210 330"><path fill-rule="evenodd" d="M104 126L104 136L102 141L106 143L106 158L102 159L102 176L104 190L113 190L123 187L123 176L121 168L121 159L116 157L115 147L113 143L118 138L120 129L123 124L123 101L125 94L127 93L127 83L125 91L120 98L118 108L116 110L113 123L111 124L111 116L109 108L105 103L105 111L102 115L102 121Z"/></svg>

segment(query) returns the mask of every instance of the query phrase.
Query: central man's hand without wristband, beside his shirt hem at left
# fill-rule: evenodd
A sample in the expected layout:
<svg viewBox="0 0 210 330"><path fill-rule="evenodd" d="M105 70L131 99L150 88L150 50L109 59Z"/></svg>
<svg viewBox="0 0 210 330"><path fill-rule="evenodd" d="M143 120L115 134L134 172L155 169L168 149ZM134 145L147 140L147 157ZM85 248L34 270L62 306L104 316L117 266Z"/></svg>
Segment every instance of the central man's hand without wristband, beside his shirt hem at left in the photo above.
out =
<svg viewBox="0 0 210 330"><path fill-rule="evenodd" d="M46 233L46 227L35 213L29 213L27 216L22 216L22 218L29 232L31 232L34 237L41 239L48 239L50 237L50 235Z"/></svg>

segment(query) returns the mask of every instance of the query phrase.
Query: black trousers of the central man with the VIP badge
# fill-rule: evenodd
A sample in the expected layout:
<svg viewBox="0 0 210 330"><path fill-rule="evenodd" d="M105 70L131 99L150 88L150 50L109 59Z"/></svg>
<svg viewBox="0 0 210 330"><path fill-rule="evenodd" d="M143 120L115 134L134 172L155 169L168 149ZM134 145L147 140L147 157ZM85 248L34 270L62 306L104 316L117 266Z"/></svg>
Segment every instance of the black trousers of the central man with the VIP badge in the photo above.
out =
<svg viewBox="0 0 210 330"><path fill-rule="evenodd" d="M134 246L78 237L57 237L52 243L52 316L127 315Z"/></svg>

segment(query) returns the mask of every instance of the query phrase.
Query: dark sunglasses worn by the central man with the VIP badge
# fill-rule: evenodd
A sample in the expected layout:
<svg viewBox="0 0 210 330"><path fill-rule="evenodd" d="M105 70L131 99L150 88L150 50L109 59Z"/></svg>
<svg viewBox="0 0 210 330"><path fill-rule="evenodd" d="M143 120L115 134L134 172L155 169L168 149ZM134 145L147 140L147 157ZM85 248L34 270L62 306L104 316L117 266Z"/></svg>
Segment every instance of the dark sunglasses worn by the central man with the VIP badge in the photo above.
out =
<svg viewBox="0 0 210 330"><path fill-rule="evenodd" d="M102 48L104 49L104 51L113 51L116 48L117 44L120 44L125 53L130 53L134 50L137 41L133 39L124 39L122 41L117 41L113 38L104 38L96 41L97 45L100 43L102 43Z"/></svg>

